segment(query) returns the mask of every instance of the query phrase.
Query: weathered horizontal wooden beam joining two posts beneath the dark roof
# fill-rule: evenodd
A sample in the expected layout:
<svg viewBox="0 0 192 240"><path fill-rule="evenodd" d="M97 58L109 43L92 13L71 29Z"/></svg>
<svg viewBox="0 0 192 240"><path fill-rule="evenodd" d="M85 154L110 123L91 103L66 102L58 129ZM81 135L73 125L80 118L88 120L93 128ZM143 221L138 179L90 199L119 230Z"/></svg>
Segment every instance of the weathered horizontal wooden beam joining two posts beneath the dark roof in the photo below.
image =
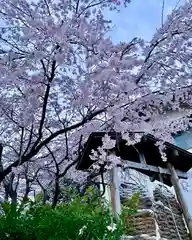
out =
<svg viewBox="0 0 192 240"><path fill-rule="evenodd" d="M166 174L166 175L171 176L170 169L168 169L168 168L161 168L161 167L156 167L156 166L147 165L147 164L143 164L143 163L127 161L127 160L125 160L125 161L126 161L126 164L123 165L124 169L132 168L132 169L136 169L136 170L146 170L149 172L161 173L161 174ZM175 170L175 171L179 178L184 178L184 179L188 178L187 173L179 171L179 170Z"/></svg>

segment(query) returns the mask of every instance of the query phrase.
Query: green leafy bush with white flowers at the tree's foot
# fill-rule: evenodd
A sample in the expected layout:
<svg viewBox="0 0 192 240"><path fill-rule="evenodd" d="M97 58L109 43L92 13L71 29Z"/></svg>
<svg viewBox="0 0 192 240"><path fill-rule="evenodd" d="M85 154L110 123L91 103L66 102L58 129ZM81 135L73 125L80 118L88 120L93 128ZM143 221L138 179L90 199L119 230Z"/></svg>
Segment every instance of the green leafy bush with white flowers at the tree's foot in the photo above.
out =
<svg viewBox="0 0 192 240"><path fill-rule="evenodd" d="M24 206L2 204L1 240L115 240L122 235L121 218L112 218L102 199L90 203L87 196L71 203L51 205L28 202ZM124 216L125 212L122 214ZM112 224L113 223L113 224ZM126 226L126 232L129 232Z"/></svg>

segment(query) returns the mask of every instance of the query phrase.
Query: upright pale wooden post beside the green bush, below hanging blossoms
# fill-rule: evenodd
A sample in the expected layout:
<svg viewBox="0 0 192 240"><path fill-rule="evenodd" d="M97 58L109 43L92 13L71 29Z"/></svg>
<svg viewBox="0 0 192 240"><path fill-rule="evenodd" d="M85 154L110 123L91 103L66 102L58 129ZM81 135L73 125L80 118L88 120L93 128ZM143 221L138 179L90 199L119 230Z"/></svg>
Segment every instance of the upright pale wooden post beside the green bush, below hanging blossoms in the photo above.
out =
<svg viewBox="0 0 192 240"><path fill-rule="evenodd" d="M119 179L118 179L118 167L113 167L111 170L111 205L114 215L121 214L121 201L119 193Z"/></svg>

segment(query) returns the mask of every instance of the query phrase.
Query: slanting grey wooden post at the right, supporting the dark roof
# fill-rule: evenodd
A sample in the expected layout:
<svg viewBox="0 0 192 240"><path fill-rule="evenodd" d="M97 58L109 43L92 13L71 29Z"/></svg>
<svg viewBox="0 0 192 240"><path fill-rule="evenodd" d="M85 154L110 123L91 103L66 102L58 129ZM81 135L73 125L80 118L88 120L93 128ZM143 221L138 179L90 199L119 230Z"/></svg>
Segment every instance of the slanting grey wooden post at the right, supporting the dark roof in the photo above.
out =
<svg viewBox="0 0 192 240"><path fill-rule="evenodd" d="M185 218L185 221L186 221L186 224L187 224L187 227L188 227L188 230L189 230L190 239L192 239L192 219L191 219L191 216L190 216L190 213L189 213L189 209L187 207L187 203L184 199L183 192L181 190L181 186L180 186L180 183L179 183L179 178L177 176L175 168L173 167L173 165L171 163L168 163L168 168L171 172L171 181L172 181L172 184L174 186L177 199L178 199L178 201L181 205L181 208L183 210L183 216Z"/></svg>

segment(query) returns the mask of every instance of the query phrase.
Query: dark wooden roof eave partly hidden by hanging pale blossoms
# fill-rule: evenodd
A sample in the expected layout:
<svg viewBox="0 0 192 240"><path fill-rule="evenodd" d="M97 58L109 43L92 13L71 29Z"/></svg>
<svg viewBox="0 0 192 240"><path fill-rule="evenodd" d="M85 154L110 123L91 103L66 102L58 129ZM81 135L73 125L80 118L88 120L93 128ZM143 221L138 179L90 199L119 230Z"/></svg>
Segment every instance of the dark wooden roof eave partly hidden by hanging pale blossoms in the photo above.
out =
<svg viewBox="0 0 192 240"><path fill-rule="evenodd" d="M93 164L89 155L92 149L96 150L102 145L102 137L105 134L105 132L94 132L89 136L82 154L79 157L77 164L78 170L86 170ZM162 161L159 149L155 145L157 140L152 135L144 136L142 141L135 144L135 146L127 146L126 141L121 138L120 133L110 132L108 135L116 140L117 144L113 152L115 152L117 156L120 156L122 161L135 162L137 168L140 168L141 172L149 176L152 176L154 172L156 172L156 169L162 169L164 174L169 175L168 172L166 173L167 163ZM178 173L180 173L180 178L186 178L187 171L192 168L192 153L168 142L166 142L165 145L168 162L172 163ZM141 162L138 151L144 155L145 162ZM130 165L134 168L134 164Z"/></svg>

